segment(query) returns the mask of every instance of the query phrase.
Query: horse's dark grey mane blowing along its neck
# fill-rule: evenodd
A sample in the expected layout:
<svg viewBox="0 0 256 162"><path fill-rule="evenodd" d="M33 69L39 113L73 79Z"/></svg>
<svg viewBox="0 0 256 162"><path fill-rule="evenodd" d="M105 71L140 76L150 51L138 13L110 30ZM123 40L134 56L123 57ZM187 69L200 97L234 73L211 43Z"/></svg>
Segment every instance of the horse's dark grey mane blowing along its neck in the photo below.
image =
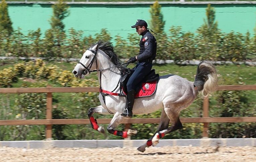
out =
<svg viewBox="0 0 256 162"><path fill-rule="evenodd" d="M96 44L92 45L91 47L95 46ZM110 42L103 42L102 40L98 41L98 45L97 45L97 49L96 51L100 49L101 51L103 51L106 55L108 55L108 57L110 58L110 61L114 64L114 65L121 65L122 62L121 60L118 58L118 56L116 55L116 53L114 52L113 49L113 45ZM121 66L121 68L123 68L123 66Z"/></svg>

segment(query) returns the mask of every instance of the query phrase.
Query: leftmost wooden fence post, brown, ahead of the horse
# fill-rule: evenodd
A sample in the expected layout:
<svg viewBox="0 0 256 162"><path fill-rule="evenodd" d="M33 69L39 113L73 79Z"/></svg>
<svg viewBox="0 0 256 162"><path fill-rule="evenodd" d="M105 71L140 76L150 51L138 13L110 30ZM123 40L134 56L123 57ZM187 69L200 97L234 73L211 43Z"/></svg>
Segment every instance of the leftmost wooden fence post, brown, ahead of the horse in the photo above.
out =
<svg viewBox="0 0 256 162"><path fill-rule="evenodd" d="M47 85L47 88L52 87L51 85ZM52 119L52 108L53 108L53 98L52 93L47 93L47 110L46 110L46 119ZM52 125L46 125L46 139L52 138Z"/></svg>

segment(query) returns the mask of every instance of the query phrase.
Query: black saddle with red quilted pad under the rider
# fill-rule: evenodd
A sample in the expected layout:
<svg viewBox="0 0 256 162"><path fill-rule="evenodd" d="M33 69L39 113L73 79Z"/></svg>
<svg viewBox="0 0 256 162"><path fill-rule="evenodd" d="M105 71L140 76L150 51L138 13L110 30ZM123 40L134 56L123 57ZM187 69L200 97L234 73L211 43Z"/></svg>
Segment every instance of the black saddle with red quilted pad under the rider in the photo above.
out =
<svg viewBox="0 0 256 162"><path fill-rule="evenodd" d="M120 89L121 93L125 96L127 93L127 82L133 71L129 68L124 69L121 73L120 79ZM146 97L152 95L157 87L157 80L159 79L159 74L156 74L155 69L152 69L148 75L142 80L139 86L135 89L135 98ZM145 87L145 88L143 88Z"/></svg>

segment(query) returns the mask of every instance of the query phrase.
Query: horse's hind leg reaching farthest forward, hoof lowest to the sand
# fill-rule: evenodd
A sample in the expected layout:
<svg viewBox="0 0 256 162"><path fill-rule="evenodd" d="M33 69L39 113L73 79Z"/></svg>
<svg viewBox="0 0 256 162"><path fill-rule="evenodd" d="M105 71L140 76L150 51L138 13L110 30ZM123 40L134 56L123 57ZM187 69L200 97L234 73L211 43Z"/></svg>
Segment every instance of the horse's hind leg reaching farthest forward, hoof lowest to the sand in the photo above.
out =
<svg viewBox="0 0 256 162"><path fill-rule="evenodd" d="M167 129L168 126L169 126L169 122L170 122L170 119L168 118L168 116L166 115L166 113L165 113L165 111L163 109L162 113L161 113L160 124L159 124L159 127L158 127L156 133L158 133L158 132L160 132L162 130ZM139 148L137 148L137 150L141 151L141 152L144 152L146 150L146 147L151 146L152 145L152 139L155 136L155 134L145 144L143 144Z"/></svg>

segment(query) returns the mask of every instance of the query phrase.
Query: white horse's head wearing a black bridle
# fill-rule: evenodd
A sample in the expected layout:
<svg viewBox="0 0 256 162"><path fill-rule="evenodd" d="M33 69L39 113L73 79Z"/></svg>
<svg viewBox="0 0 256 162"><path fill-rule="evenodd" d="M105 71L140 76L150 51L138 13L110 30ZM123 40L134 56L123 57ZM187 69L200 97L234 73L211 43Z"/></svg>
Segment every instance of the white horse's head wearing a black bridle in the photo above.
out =
<svg viewBox="0 0 256 162"><path fill-rule="evenodd" d="M89 74L93 70L97 69L97 45L98 43L85 51L82 58L72 71L75 77L84 78L86 74Z"/></svg>

